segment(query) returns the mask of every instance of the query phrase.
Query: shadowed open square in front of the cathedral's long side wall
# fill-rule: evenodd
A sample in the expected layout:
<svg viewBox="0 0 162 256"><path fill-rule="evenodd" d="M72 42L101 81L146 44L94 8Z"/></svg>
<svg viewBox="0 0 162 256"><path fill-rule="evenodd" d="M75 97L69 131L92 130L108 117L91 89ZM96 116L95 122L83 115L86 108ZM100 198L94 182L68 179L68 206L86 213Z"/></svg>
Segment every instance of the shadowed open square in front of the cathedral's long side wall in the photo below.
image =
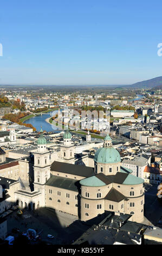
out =
<svg viewBox="0 0 162 256"><path fill-rule="evenodd" d="M23 209L21 217L17 216L17 210L7 216L8 235L13 228L20 229L20 233L27 229L35 229L36 233L41 233L41 240L52 245L70 244L76 240L84 231L88 229L77 220L76 216L48 208L40 208L34 211ZM53 239L48 239L47 235L53 235Z"/></svg>

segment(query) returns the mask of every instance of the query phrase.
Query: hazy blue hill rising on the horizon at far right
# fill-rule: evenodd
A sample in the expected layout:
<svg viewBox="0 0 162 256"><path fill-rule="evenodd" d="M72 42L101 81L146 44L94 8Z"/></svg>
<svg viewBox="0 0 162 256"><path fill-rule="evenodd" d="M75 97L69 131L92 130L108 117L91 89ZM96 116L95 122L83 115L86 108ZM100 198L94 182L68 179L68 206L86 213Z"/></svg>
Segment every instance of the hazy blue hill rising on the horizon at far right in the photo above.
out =
<svg viewBox="0 0 162 256"><path fill-rule="evenodd" d="M146 88L154 88L154 87L159 87L162 85L162 76L152 78L150 80L145 80L141 81L138 83L133 83L129 87L133 88L141 88L141 87L146 87Z"/></svg>

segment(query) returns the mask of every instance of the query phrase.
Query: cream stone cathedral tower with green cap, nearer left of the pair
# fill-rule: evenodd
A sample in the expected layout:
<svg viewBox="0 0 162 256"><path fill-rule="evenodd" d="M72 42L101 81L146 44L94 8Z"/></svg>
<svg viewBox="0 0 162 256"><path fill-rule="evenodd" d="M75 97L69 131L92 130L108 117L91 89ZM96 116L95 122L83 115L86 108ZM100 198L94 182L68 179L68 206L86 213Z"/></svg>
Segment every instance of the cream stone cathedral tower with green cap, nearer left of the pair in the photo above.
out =
<svg viewBox="0 0 162 256"><path fill-rule="evenodd" d="M41 192L41 207L44 206L44 184L50 178L50 152L46 148L46 139L42 127L37 140L37 150L34 154L34 190Z"/></svg>

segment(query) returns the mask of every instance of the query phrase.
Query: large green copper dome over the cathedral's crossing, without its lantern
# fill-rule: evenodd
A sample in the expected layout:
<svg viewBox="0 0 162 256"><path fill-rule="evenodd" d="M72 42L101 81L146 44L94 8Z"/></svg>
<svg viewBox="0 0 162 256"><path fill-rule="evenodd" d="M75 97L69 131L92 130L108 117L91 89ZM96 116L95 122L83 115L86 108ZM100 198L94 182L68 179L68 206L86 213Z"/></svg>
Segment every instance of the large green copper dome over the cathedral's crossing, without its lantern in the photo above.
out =
<svg viewBox="0 0 162 256"><path fill-rule="evenodd" d="M94 155L94 161L97 163L118 163L121 162L118 150L113 147L100 148Z"/></svg>

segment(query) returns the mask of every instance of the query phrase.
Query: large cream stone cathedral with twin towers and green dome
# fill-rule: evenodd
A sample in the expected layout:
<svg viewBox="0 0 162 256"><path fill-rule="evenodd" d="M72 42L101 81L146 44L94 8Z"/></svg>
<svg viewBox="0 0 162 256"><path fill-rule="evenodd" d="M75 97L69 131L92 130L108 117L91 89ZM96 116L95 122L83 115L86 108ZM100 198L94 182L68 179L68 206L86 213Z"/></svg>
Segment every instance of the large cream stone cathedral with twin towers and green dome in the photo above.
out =
<svg viewBox="0 0 162 256"><path fill-rule="evenodd" d="M68 160L74 158L68 130L64 132L60 154ZM96 150L94 168L61 161L51 163L42 129L33 155L33 186L25 187L21 179L8 184L12 202L22 209L47 207L78 216L81 221L113 211L129 214L130 220L142 222L144 180L121 166L120 154L113 148L109 135L103 147ZM5 177L3 182L7 182Z"/></svg>

